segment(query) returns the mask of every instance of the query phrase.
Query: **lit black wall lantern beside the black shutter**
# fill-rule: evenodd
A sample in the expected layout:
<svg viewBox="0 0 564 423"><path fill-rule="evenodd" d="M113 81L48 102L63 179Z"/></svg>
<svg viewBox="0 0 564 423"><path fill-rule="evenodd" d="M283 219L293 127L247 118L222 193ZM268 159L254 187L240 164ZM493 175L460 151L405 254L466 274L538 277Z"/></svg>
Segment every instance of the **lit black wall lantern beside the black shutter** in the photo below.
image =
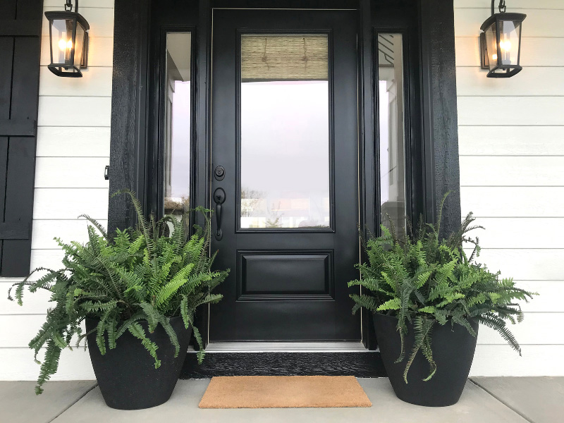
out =
<svg viewBox="0 0 564 423"><path fill-rule="evenodd" d="M81 69L88 66L88 25L78 13L78 0L73 11L72 0L66 0L65 10L45 12L49 20L51 64L49 70L57 76L81 78Z"/></svg>

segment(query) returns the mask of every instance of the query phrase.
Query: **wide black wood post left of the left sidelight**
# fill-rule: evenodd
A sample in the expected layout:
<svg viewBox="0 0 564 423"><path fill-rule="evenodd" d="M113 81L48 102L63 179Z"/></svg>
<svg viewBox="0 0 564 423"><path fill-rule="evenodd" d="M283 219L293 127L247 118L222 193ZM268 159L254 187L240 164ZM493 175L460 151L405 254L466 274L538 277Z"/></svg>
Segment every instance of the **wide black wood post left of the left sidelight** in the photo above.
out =
<svg viewBox="0 0 564 423"><path fill-rule="evenodd" d="M150 0L119 0L114 9L109 193L133 190L143 206L150 5ZM110 198L108 219L109 233L135 225L137 218L128 197Z"/></svg>

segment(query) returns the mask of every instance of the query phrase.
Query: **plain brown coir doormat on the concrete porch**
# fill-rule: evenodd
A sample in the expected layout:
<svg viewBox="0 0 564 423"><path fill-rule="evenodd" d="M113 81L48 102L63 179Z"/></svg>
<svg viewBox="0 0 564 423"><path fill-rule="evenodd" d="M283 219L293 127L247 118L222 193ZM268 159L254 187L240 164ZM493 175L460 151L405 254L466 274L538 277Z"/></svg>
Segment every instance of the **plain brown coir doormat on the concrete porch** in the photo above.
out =
<svg viewBox="0 0 564 423"><path fill-rule="evenodd" d="M219 376L200 408L372 407L354 376Z"/></svg>

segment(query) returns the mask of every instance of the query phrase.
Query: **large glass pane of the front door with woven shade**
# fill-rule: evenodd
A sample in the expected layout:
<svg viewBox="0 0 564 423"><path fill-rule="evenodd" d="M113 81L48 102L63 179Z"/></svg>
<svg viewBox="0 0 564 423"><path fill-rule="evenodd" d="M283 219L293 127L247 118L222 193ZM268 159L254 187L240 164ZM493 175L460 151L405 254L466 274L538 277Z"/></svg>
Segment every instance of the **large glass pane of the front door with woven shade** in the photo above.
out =
<svg viewBox="0 0 564 423"><path fill-rule="evenodd" d="M327 35L243 35L241 228L330 222Z"/></svg>

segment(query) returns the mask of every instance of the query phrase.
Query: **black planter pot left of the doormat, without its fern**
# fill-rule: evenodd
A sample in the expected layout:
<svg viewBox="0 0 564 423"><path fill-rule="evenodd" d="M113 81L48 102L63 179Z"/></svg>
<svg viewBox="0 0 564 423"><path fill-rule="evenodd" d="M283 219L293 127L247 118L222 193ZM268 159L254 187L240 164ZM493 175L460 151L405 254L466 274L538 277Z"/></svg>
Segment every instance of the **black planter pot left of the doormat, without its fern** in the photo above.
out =
<svg viewBox="0 0 564 423"><path fill-rule="evenodd" d="M97 324L95 319L86 319L86 330L90 332ZM161 360L161 367L158 369L154 368L154 359L141 345L141 341L128 331L118 338L114 350L106 348L105 355L100 353L96 333L87 337L94 374L104 401L111 408L140 410L166 403L180 376L192 328L186 330L181 317L171 319L180 343L180 353L174 358L174 346L162 326L157 326L154 333L149 333L147 322L140 324L147 337L159 346L157 356Z"/></svg>

